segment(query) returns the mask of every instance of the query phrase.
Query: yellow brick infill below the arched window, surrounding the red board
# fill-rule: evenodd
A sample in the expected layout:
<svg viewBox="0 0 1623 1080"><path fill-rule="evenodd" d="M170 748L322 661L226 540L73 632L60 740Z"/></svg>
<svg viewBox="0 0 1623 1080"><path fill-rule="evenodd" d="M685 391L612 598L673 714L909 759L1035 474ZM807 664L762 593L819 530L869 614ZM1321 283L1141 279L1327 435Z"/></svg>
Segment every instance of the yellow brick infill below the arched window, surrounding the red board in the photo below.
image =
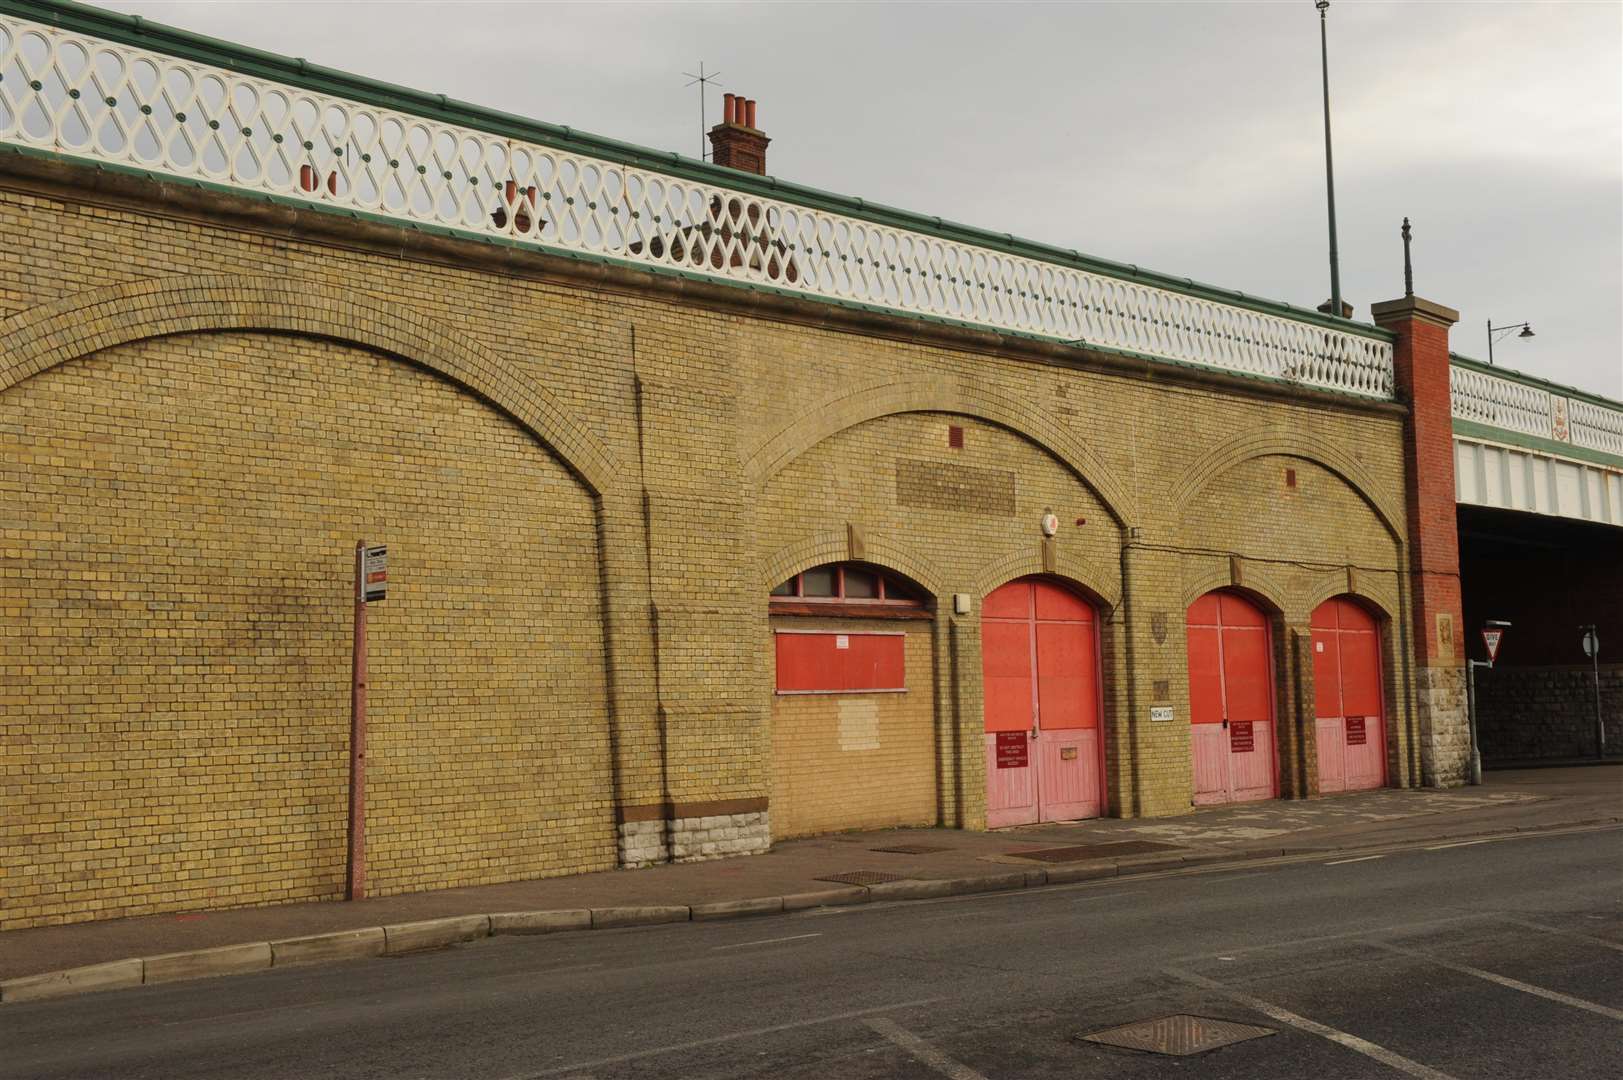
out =
<svg viewBox="0 0 1623 1080"><path fill-rule="evenodd" d="M933 825L930 622L774 617L771 629L907 635L904 693L773 695L773 840L844 828Z"/></svg>

